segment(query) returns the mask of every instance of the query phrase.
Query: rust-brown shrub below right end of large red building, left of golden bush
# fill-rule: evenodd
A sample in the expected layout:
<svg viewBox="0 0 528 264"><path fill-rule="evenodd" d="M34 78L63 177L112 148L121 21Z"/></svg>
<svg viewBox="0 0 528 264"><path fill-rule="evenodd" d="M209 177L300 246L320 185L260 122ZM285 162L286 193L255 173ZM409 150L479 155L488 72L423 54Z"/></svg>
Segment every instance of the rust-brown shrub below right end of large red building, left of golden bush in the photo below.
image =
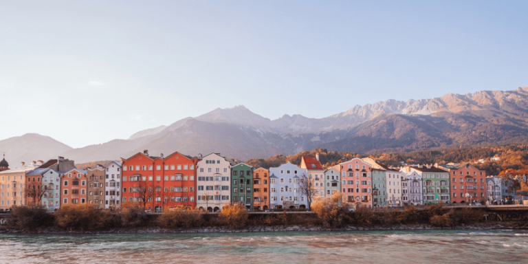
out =
<svg viewBox="0 0 528 264"><path fill-rule="evenodd" d="M168 211L157 221L161 228L197 228L203 224L201 212L197 209Z"/></svg>

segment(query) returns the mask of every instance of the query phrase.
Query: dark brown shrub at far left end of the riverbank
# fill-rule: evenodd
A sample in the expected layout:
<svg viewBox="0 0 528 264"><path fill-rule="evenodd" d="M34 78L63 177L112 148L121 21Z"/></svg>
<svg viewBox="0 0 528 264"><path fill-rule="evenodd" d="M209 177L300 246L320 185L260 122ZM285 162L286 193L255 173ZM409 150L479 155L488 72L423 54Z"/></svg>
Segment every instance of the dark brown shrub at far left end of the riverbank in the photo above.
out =
<svg viewBox="0 0 528 264"><path fill-rule="evenodd" d="M53 222L53 214L47 212L42 206L14 206L8 227L18 230L34 230L51 226Z"/></svg>

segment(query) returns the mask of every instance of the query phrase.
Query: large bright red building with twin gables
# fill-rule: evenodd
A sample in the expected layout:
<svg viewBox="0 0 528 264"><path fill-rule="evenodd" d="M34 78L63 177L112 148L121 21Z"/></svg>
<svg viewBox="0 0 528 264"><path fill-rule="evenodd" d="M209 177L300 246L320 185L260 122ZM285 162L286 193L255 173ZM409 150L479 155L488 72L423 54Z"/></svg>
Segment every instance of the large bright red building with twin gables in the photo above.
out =
<svg viewBox="0 0 528 264"><path fill-rule="evenodd" d="M140 203L156 212L195 208L197 162L179 152L153 157L146 150L122 159L122 203Z"/></svg>

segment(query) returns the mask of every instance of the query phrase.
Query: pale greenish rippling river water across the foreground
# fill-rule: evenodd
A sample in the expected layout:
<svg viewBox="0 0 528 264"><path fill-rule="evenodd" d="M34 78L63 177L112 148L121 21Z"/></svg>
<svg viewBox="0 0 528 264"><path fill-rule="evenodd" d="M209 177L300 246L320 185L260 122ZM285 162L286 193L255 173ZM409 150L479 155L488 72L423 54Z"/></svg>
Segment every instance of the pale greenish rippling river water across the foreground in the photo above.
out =
<svg viewBox="0 0 528 264"><path fill-rule="evenodd" d="M0 234L0 263L528 263L528 231Z"/></svg>

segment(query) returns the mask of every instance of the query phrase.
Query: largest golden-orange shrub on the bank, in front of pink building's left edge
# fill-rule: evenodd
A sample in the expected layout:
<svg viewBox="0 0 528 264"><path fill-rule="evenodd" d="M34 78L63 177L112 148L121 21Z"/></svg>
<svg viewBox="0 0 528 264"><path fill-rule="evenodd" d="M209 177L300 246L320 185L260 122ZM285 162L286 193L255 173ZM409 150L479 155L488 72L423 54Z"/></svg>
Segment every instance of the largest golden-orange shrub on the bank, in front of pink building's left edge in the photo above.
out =
<svg viewBox="0 0 528 264"><path fill-rule="evenodd" d="M341 202L341 192L335 192L332 197L316 197L310 206L325 228L339 228L348 216L349 206Z"/></svg>

